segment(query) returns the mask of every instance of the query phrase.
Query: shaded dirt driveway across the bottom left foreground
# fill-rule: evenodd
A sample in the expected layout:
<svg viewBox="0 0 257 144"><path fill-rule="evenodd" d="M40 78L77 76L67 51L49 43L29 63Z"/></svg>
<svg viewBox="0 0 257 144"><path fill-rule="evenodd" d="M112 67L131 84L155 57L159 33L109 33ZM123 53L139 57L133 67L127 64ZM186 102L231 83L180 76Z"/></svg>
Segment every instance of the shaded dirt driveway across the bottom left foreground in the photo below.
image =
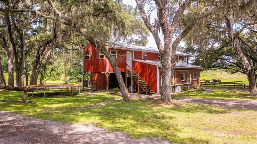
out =
<svg viewBox="0 0 257 144"><path fill-rule="evenodd" d="M65 124L52 120L22 117L8 112L0 112L1 143L103 143L103 144L148 144L169 141L153 138L133 139L123 132L107 132L94 126Z"/></svg>

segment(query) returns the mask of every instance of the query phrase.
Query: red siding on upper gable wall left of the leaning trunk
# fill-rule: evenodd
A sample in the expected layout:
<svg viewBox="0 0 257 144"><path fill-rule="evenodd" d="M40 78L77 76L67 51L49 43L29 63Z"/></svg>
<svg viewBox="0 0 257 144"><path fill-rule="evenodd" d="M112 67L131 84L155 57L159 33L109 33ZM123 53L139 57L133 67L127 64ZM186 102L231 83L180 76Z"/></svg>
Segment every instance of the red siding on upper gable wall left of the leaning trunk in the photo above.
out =
<svg viewBox="0 0 257 144"><path fill-rule="evenodd" d="M85 60L85 52L89 52L89 60ZM99 50L92 44L83 49L84 72L106 72L106 57L99 59Z"/></svg>

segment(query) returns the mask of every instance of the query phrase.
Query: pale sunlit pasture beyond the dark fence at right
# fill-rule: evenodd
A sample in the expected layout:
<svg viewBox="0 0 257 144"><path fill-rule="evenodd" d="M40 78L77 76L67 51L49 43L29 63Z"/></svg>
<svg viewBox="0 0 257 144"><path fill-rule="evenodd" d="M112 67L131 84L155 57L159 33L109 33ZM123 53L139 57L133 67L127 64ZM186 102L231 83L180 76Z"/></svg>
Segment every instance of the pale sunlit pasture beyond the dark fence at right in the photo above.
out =
<svg viewBox="0 0 257 144"><path fill-rule="evenodd" d="M236 74L228 74L224 71L203 71L200 74L201 80L203 79L220 79L220 80L228 80L228 81L248 81L247 76L242 73L236 73Z"/></svg>

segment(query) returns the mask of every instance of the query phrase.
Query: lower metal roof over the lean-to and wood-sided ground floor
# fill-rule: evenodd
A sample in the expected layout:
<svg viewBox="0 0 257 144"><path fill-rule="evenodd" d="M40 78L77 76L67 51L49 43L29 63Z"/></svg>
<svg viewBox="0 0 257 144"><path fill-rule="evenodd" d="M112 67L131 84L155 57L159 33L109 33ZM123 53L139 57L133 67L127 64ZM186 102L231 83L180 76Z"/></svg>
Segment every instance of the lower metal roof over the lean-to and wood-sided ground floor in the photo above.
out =
<svg viewBox="0 0 257 144"><path fill-rule="evenodd" d="M139 60L139 59L133 59L133 60L134 61L139 61L141 63L146 63L146 64L161 67L161 61L157 61L157 60ZM178 62L178 63L176 63L175 68L199 68L199 69L203 69L204 67Z"/></svg>

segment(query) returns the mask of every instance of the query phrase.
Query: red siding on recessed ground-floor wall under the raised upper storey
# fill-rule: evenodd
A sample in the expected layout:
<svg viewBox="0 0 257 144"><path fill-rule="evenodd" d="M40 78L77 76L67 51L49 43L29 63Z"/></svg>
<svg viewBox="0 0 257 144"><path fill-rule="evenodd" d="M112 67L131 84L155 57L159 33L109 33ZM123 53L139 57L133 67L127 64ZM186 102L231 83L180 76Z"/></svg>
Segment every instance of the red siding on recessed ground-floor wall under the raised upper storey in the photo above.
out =
<svg viewBox="0 0 257 144"><path fill-rule="evenodd" d="M96 88L106 89L106 75L104 73L91 74L91 80L96 80ZM94 83L95 81L93 81Z"/></svg>

